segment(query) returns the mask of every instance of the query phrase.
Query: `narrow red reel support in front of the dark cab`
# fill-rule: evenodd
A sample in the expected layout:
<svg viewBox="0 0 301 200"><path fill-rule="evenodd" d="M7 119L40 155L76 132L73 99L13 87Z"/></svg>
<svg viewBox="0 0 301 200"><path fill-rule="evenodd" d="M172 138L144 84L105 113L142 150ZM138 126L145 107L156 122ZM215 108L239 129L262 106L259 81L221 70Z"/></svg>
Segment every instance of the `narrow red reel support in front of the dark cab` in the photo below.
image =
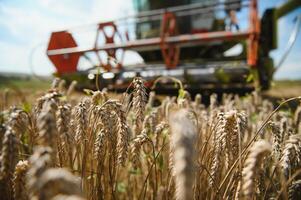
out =
<svg viewBox="0 0 301 200"><path fill-rule="evenodd" d="M166 38L169 36L177 35L177 24L176 16L171 12L166 12L163 15L163 20L161 24L161 52L166 67L168 69L173 69L178 65L180 48L176 44L166 43Z"/></svg>

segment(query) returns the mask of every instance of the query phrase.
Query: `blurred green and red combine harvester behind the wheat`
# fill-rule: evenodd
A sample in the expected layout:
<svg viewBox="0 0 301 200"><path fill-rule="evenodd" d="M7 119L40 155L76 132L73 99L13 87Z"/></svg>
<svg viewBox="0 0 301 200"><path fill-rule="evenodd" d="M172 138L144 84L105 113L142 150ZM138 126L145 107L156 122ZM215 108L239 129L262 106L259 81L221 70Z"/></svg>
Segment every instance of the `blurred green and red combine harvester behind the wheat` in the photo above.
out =
<svg viewBox="0 0 301 200"><path fill-rule="evenodd" d="M134 5L135 16L89 25L96 27L93 47L79 46L72 35L85 27L53 32L47 55L56 74L82 87L97 82L100 89L115 91L125 90L135 76L149 87L158 77L170 76L190 91L246 92L255 82L265 90L275 71L269 52L277 48L277 20L301 1L267 9L261 19L257 0L134 0ZM245 23L240 22L243 14ZM241 51L231 55L233 48ZM144 63L123 64L127 51L137 52ZM91 67L78 70L80 58ZM169 81L156 88L175 89Z"/></svg>

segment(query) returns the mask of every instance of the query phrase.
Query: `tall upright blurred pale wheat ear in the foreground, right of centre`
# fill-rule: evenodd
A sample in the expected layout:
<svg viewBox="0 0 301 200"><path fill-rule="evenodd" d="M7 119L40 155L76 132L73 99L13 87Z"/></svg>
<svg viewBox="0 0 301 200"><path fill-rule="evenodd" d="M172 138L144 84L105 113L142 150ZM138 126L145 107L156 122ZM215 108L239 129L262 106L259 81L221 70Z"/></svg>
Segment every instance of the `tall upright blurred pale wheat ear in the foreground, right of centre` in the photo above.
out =
<svg viewBox="0 0 301 200"><path fill-rule="evenodd" d="M187 110L174 113L169 120L174 175L176 180L176 199L185 200L193 197L193 183L195 175L195 148L196 128L188 118Z"/></svg>

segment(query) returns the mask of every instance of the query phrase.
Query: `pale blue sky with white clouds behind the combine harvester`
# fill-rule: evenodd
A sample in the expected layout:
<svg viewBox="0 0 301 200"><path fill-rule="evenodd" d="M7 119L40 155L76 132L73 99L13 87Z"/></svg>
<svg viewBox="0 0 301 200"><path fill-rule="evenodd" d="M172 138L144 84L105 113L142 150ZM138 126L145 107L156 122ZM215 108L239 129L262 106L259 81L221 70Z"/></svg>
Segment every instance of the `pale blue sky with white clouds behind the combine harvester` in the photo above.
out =
<svg viewBox="0 0 301 200"><path fill-rule="evenodd" d="M266 8L285 1L259 0L260 16ZM33 71L39 75L50 75L55 68L46 56L46 48L52 31L112 20L133 12L132 0L0 0L0 73L30 74ZM271 53L275 64L284 53L293 30L293 19L300 14L299 8L279 20L278 49ZM91 43L95 30L82 32L75 35L79 44ZM128 63L140 62L141 58L135 53L128 53L125 60ZM301 79L300 63L301 31L274 78Z"/></svg>

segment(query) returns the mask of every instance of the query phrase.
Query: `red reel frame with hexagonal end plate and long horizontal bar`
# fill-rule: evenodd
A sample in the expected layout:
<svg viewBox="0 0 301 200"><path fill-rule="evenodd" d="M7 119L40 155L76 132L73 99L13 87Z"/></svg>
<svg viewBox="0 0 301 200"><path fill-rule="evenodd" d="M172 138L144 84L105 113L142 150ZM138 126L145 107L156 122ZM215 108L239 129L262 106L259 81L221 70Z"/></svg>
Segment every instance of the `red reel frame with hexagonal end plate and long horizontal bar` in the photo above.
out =
<svg viewBox="0 0 301 200"><path fill-rule="evenodd" d="M67 31L53 32L47 48L47 55L55 65L58 74L72 73L77 71L79 57L87 52L95 52L99 66L106 71L111 71L109 63L104 63L98 52L103 51L109 57L116 59L117 49L131 50L137 48L158 46L161 49L162 57L167 69L175 68L179 62L180 45L192 42L211 42L211 41L230 41L247 40L247 63L251 67L256 67L258 56L258 42L260 33L260 23L258 18L257 0L250 0L249 4L249 29L244 32L217 31L205 33L191 33L179 35L177 31L176 15L165 11L162 14L160 37L139 39L130 41L128 33L125 32L126 41L121 44L115 43L115 37L122 38L121 33L114 21L98 24L96 39L93 48L80 48L76 44L72 35ZM139 16L137 17L139 18ZM106 27L113 29L113 34L108 35L105 32ZM103 35L105 43L98 46L98 37ZM122 56L123 59L123 56ZM117 68L122 68L122 59L118 61Z"/></svg>

